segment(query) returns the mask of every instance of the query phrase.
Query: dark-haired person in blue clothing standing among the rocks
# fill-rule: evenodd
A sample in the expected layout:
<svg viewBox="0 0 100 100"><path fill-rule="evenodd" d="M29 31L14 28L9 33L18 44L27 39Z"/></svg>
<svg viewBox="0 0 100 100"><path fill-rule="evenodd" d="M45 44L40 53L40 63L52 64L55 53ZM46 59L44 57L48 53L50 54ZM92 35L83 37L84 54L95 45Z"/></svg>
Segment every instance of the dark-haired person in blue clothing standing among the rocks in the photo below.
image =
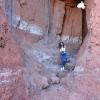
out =
<svg viewBox="0 0 100 100"><path fill-rule="evenodd" d="M63 42L59 43L59 49L60 49L60 64L61 64L61 71L64 70L65 64L68 61L68 54L65 50L65 46Z"/></svg>

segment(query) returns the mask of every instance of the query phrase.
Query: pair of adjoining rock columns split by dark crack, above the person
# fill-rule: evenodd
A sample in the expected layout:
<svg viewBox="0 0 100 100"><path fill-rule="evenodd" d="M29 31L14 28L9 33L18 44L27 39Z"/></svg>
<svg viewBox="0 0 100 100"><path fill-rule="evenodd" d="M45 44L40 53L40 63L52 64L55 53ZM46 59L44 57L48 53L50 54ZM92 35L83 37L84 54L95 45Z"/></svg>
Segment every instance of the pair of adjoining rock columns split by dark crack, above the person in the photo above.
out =
<svg viewBox="0 0 100 100"><path fill-rule="evenodd" d="M54 1L54 0L53 0ZM75 7L73 0L55 0L53 2L52 37L61 35L62 40L81 44L82 11Z"/></svg>

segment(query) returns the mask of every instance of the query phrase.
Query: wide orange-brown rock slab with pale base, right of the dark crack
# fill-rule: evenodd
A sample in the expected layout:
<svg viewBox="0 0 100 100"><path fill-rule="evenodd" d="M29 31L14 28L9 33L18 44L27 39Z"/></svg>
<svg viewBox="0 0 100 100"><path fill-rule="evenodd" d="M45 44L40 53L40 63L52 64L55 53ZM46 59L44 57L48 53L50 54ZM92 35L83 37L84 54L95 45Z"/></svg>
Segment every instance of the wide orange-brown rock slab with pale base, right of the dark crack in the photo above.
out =
<svg viewBox="0 0 100 100"><path fill-rule="evenodd" d="M81 43L82 39L82 11L72 8L73 0L66 1L65 17L63 21L62 39L71 43Z"/></svg>

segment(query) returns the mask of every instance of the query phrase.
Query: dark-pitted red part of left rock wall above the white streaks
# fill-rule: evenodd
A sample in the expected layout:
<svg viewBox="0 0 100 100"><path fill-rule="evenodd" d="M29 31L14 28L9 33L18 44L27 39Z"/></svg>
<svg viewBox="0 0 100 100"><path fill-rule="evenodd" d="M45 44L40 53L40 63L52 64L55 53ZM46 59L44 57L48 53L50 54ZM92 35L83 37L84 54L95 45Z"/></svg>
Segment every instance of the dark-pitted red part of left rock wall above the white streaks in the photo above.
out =
<svg viewBox="0 0 100 100"><path fill-rule="evenodd" d="M0 19L0 66L20 66L23 59L2 9L0 9Z"/></svg>

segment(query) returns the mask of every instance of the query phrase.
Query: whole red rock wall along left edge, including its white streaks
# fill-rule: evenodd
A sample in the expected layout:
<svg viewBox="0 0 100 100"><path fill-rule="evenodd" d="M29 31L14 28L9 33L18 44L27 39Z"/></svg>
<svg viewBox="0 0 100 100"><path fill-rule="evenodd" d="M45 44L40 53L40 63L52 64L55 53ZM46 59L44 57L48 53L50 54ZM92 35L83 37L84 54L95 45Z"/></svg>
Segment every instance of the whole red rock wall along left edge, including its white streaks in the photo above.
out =
<svg viewBox="0 0 100 100"><path fill-rule="evenodd" d="M20 97L25 100L27 95L22 96L26 94L22 78L23 58L8 26L2 2L0 20L0 99L18 100Z"/></svg>

